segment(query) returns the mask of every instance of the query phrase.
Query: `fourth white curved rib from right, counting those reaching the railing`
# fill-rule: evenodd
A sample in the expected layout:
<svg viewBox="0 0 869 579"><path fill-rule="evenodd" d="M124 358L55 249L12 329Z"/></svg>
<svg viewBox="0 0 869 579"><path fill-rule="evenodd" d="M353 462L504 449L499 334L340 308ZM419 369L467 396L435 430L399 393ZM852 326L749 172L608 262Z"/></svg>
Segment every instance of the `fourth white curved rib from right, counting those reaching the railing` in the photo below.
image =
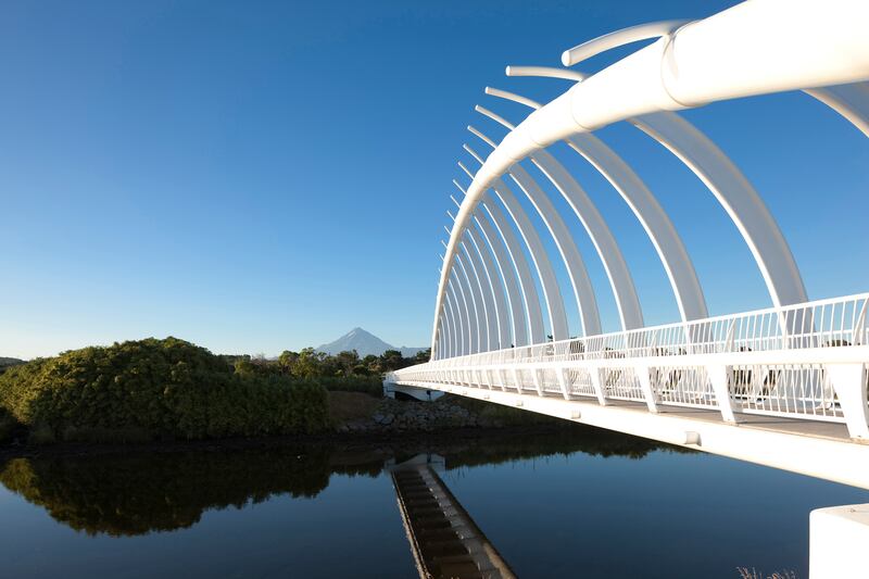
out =
<svg viewBox="0 0 869 579"><path fill-rule="evenodd" d="M570 286L574 288L574 297L577 301L583 333L585 336L601 333L601 314L597 310L594 288L591 285L591 279L589 279L585 262L582 261L579 249L574 242L574 238L570 236L564 219L562 219L546 193L518 163L511 167L509 174L516 185L519 186L519 189L528 197L528 200L531 201L531 204L534 205L540 218L543 219L546 229L552 235L562 260L564 260L567 275L570 278ZM555 339L559 340L561 338Z"/></svg>

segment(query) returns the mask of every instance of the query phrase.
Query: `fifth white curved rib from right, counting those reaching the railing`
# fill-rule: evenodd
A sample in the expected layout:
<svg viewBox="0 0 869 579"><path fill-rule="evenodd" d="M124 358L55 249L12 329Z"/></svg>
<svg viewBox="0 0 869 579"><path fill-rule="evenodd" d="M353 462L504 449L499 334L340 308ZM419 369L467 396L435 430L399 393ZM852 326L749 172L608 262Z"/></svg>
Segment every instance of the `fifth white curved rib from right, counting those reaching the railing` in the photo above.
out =
<svg viewBox="0 0 869 579"><path fill-rule="evenodd" d="M526 214L507 184L498 179L493 189L499 199L501 199L501 202L504 203L507 213L519 228L519 235L531 254L531 262L534 264L534 269L537 269L538 278L543 289L543 301L546 304L552 336L555 340L566 340L570 337L570 331L567 328L567 314L564 311L564 300L562 299L562 291L558 288L558 280L555 277L555 270L552 268L552 263L540 239L540 235L537 232L531 219L528 218L528 214ZM543 332L542 339L536 340L532 343L540 343L545 339L546 335Z"/></svg>

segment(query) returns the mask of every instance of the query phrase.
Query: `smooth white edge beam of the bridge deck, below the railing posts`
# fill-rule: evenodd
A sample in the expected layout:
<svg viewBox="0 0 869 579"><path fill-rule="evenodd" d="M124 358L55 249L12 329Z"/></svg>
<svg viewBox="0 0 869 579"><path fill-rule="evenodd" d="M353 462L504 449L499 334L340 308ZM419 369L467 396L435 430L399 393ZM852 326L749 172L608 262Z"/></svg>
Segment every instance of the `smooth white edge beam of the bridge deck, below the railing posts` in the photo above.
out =
<svg viewBox="0 0 869 579"><path fill-rule="evenodd" d="M851 436L847 424L735 412L735 424L722 419L716 407L659 404L650 412L641 401L522 389L489 389L407 380L401 388L430 388L546 414L689 449L782 468L813 477L869 489L869 441Z"/></svg>

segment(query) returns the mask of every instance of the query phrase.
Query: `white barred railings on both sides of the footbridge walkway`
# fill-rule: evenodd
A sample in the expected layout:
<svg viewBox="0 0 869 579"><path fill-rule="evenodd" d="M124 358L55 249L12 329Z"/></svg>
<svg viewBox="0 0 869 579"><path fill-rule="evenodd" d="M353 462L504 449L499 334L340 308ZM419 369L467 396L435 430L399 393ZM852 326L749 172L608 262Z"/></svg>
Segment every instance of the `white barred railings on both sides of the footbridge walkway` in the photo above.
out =
<svg viewBox="0 0 869 579"><path fill-rule="evenodd" d="M842 383L833 383L818 352L869 344L867 309L869 293L862 293L436 360L398 370L388 379L590 397L601 403L626 400L644 402L652 410L656 405L717 408L726 417L741 412L848 421ZM782 357L782 352L798 355ZM851 365L855 366L853 360ZM860 358L856 365L862 368L858 380L866 380L869 360ZM715 387L715 373L723 373L719 376L725 394ZM869 437L867 385L856 386L862 389L861 398L852 400L855 421L849 430Z"/></svg>

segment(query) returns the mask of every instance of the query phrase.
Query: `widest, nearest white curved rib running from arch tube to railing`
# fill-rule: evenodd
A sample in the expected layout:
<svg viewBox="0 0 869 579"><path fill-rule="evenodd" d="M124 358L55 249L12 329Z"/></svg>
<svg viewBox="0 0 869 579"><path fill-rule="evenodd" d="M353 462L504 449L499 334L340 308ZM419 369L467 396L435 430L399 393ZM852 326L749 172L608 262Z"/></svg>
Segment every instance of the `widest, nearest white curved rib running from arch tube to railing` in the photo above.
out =
<svg viewBox="0 0 869 579"><path fill-rule="evenodd" d="M807 302L803 278L779 225L733 162L675 113L643 115L629 122L669 149L715 194L754 255L773 305Z"/></svg>

